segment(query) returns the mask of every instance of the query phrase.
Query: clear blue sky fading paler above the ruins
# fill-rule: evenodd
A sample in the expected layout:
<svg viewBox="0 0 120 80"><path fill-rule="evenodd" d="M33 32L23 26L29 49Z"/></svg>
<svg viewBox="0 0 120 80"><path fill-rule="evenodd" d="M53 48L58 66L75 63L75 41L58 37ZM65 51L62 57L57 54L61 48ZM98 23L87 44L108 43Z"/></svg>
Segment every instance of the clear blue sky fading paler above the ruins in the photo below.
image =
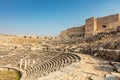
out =
<svg viewBox="0 0 120 80"><path fill-rule="evenodd" d="M120 0L0 0L0 34L58 35L89 17L120 13Z"/></svg>

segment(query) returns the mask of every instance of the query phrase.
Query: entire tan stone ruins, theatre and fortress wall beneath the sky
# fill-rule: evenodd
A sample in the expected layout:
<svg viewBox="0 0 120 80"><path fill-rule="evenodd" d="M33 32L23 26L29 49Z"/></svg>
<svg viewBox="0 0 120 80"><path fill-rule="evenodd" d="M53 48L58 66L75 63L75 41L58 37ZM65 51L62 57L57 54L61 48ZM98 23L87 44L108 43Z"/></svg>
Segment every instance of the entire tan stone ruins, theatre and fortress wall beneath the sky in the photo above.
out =
<svg viewBox="0 0 120 80"><path fill-rule="evenodd" d="M54 37L0 34L0 80L11 71L16 80L120 80L120 15Z"/></svg>

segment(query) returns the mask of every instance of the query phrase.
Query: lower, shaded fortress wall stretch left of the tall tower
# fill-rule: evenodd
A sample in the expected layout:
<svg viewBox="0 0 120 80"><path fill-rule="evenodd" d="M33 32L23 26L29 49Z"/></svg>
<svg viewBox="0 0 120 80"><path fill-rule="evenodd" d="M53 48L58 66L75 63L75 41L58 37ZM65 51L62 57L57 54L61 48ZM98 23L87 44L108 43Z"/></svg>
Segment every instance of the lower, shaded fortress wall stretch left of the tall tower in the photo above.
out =
<svg viewBox="0 0 120 80"><path fill-rule="evenodd" d="M64 30L60 33L61 36L64 35L80 35L85 33L85 26L73 27L67 30Z"/></svg>

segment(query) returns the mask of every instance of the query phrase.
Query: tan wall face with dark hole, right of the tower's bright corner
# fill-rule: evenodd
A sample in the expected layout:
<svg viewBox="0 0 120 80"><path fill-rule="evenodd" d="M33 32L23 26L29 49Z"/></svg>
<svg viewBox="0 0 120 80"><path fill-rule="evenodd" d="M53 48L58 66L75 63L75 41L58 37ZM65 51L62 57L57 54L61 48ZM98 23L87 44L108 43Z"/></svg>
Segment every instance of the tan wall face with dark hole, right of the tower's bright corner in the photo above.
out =
<svg viewBox="0 0 120 80"><path fill-rule="evenodd" d="M109 29L114 29L120 25L120 15L110 15L97 18L97 30L96 33L109 32Z"/></svg>

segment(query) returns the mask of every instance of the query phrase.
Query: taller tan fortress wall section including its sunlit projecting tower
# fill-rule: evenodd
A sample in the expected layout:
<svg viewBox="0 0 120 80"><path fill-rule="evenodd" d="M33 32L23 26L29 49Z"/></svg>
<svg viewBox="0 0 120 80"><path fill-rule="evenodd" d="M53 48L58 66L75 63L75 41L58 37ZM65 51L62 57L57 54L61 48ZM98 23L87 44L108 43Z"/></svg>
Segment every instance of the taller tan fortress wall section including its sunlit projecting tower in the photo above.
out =
<svg viewBox="0 0 120 80"><path fill-rule="evenodd" d="M85 35L94 35L101 32L109 32L120 26L120 15L110 15L100 18L89 18L85 24Z"/></svg>

